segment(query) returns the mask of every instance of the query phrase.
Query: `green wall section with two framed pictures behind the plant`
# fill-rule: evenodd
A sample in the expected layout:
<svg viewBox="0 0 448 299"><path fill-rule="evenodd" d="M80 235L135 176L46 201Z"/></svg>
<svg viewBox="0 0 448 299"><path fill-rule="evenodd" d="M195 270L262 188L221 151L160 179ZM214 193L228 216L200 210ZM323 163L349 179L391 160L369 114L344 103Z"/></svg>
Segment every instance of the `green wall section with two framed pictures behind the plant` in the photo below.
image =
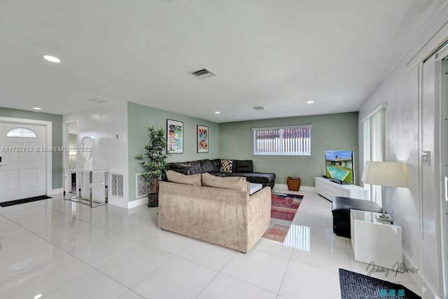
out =
<svg viewBox="0 0 448 299"><path fill-rule="evenodd" d="M168 158L168 162L185 162L219 158L218 123L128 102L129 201L135 200L135 174L141 173L141 167L137 164L137 161L134 160L134 157L143 151L143 147L148 138L148 127L162 127L166 131L167 119L183 122L184 128L183 153L172 154ZM207 125L209 127L209 153L197 153L197 125Z"/></svg>

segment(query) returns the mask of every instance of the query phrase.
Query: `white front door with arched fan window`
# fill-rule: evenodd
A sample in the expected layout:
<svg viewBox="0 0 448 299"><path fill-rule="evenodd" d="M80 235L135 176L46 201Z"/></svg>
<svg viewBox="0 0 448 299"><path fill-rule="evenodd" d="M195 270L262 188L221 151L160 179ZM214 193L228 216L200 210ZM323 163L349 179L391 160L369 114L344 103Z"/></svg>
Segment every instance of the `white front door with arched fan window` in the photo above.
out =
<svg viewBox="0 0 448 299"><path fill-rule="evenodd" d="M0 122L0 202L45 195L45 125Z"/></svg>

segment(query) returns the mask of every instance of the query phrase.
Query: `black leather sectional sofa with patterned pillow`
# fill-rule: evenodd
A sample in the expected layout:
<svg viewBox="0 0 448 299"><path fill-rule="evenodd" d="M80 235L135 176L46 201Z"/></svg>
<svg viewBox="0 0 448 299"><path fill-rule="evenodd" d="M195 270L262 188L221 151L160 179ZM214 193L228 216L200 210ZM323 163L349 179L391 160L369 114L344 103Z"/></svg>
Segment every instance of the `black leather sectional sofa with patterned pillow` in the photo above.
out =
<svg viewBox="0 0 448 299"><path fill-rule="evenodd" d="M226 159L232 160L232 159ZM189 162L172 162L168 164L170 170L181 174L202 174L209 172L215 176L245 176L251 183L261 183L263 188L274 187L275 174L266 172L253 172L252 160L232 160L232 172L221 172L221 159L197 160Z"/></svg>

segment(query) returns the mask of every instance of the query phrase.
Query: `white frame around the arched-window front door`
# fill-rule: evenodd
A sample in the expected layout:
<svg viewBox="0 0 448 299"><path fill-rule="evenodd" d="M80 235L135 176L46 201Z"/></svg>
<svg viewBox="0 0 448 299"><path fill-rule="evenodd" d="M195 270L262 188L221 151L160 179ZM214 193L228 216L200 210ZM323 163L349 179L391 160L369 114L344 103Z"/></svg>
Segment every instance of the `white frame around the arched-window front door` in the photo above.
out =
<svg viewBox="0 0 448 299"><path fill-rule="evenodd" d="M22 123L24 125L45 125L46 143L47 148L52 147L52 122L47 120L32 120L27 118L8 118L0 116L0 122L2 123ZM45 190L46 194L52 194L52 152L45 152Z"/></svg>

